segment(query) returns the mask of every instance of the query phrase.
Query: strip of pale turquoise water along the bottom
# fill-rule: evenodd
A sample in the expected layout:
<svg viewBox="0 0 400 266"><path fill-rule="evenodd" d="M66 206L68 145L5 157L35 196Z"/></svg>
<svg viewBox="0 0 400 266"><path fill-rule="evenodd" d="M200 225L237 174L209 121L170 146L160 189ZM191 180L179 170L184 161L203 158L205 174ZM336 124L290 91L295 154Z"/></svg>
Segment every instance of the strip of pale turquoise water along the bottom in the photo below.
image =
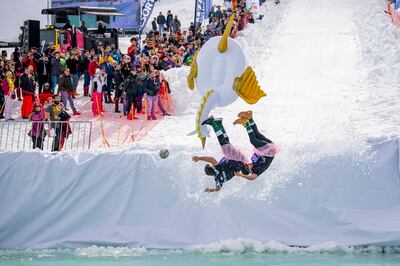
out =
<svg viewBox="0 0 400 266"><path fill-rule="evenodd" d="M101 251L82 254L68 250L0 251L0 265L37 266L186 266L186 265L400 265L400 254L392 253L201 253L187 251L144 251L130 254L109 254Z"/></svg>

